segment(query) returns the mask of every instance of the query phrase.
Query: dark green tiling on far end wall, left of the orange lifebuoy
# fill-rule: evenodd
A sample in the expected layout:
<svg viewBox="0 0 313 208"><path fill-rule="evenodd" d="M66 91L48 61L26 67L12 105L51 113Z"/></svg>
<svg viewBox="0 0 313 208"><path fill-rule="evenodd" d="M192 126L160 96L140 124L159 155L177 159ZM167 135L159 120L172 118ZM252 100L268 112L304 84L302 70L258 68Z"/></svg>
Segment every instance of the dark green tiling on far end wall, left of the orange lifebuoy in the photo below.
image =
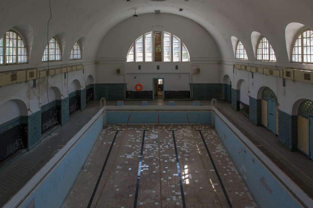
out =
<svg viewBox="0 0 313 208"><path fill-rule="evenodd" d="M95 99L105 98L107 100L123 100L124 99L124 84L95 84L94 85Z"/></svg>

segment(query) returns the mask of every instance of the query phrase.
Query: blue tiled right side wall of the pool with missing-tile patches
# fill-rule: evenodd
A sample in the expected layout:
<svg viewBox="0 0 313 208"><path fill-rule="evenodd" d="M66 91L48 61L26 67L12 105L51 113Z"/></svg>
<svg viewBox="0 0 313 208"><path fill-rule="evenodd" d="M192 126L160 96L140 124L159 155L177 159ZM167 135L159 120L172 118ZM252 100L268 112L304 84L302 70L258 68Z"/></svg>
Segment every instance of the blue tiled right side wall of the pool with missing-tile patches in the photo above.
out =
<svg viewBox="0 0 313 208"><path fill-rule="evenodd" d="M249 187L258 206L261 208L300 207L216 114L213 114L213 119L214 128L219 138L233 163L239 169L240 175Z"/></svg>

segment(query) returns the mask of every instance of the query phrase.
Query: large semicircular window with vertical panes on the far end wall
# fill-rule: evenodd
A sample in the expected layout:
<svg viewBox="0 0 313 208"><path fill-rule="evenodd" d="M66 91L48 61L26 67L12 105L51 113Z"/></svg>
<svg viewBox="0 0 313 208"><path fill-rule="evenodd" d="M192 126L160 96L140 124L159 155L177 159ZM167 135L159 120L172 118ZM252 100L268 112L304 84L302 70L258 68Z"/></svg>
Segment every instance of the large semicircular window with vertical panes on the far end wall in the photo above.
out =
<svg viewBox="0 0 313 208"><path fill-rule="evenodd" d="M162 47L161 43L163 44ZM145 33L136 39L135 44L131 45L127 53L127 62L162 60L167 62L189 61L187 47L177 36L168 32Z"/></svg>

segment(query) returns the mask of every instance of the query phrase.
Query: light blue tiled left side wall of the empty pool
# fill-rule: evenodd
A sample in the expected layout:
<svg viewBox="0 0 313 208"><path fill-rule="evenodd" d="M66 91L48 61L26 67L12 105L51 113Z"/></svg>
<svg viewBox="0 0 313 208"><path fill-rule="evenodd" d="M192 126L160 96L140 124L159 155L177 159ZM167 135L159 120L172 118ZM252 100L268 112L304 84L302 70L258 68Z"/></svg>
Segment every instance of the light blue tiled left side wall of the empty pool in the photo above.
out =
<svg viewBox="0 0 313 208"><path fill-rule="evenodd" d="M33 198L34 207L36 208L59 208L62 205L102 131L104 125L103 119L104 114L98 118L83 138L76 143L46 180L42 182L22 206L23 208L27 207Z"/></svg>

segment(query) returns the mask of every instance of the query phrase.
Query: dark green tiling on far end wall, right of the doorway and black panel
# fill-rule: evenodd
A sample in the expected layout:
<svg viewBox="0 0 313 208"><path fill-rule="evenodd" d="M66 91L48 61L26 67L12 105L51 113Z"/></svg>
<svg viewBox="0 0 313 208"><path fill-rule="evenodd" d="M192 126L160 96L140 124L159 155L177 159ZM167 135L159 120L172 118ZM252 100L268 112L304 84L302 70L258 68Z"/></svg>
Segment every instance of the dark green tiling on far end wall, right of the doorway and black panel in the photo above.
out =
<svg viewBox="0 0 313 208"><path fill-rule="evenodd" d="M190 84L190 89L193 92L193 100L216 100L220 99L220 94L223 94L223 84L206 84L193 83Z"/></svg>

